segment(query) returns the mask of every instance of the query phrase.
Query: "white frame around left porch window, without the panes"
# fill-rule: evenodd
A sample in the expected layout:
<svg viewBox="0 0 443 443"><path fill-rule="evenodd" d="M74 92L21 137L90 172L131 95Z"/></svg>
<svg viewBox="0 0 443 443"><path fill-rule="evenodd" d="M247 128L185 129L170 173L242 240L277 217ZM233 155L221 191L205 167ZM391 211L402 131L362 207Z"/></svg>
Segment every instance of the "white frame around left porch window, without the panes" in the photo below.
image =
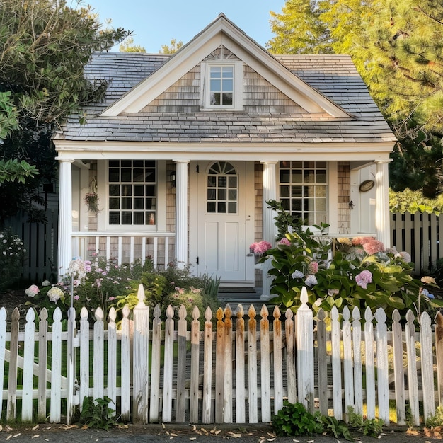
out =
<svg viewBox="0 0 443 443"><path fill-rule="evenodd" d="M144 158L144 160L146 160L146 157ZM98 196L100 197L100 202L98 205L100 211L97 213L97 229L99 231L110 232L166 232L166 205L163 204L163 202L166 202L166 180L166 161L158 160L156 169L156 225L150 226L148 224L109 224L108 161L97 161L97 192Z"/></svg>

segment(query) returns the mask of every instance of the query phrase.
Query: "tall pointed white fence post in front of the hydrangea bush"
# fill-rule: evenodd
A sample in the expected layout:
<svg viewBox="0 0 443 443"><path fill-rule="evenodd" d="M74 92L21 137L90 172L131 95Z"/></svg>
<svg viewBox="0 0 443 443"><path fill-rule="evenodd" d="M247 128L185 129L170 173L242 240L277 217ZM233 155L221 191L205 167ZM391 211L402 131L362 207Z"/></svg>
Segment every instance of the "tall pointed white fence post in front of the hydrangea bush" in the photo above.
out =
<svg viewBox="0 0 443 443"><path fill-rule="evenodd" d="M299 402L313 413L313 314L306 287L301 288L301 306L297 309L297 369Z"/></svg>

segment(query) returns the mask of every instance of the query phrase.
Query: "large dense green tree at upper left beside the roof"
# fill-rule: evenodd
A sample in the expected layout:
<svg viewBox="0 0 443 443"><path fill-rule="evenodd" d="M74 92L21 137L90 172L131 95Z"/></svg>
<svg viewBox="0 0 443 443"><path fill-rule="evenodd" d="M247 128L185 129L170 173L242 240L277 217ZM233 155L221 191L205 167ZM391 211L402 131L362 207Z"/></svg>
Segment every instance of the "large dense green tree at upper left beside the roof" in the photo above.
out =
<svg viewBox="0 0 443 443"><path fill-rule="evenodd" d="M84 65L127 35L102 29L91 8L69 8L64 0L0 1L0 159L40 172L25 185L0 185L0 223L30 208L42 180L54 178L52 131L106 88L84 78Z"/></svg>

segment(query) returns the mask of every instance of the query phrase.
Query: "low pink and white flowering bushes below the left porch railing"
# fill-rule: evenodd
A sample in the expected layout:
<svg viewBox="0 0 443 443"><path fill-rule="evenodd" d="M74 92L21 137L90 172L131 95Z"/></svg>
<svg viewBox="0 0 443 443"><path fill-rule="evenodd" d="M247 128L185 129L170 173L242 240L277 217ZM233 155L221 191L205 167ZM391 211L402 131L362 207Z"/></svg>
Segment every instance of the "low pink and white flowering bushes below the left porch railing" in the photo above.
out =
<svg viewBox="0 0 443 443"><path fill-rule="evenodd" d="M26 304L45 307L52 318L57 306L66 314L71 306L72 296L77 318L83 306L93 318L98 306L105 314L111 306L114 306L117 312L121 311L125 304L128 304L130 309L134 308L138 302L138 287L142 283L146 295L144 302L147 305L154 307L160 304L162 311L165 311L168 304L185 304L190 314L190 305L195 301L202 313L202 306L206 301L214 304L214 297L209 297L207 289L214 285L208 285L209 282L214 280L207 276L192 277L189 270L178 270L175 267L169 267L166 271L155 271L149 260L143 266L141 263L119 266L113 260L107 261L103 258L96 258L92 263L74 258L69 265L67 277L61 282L51 285L45 281L40 288L32 284L26 289L25 292L30 297ZM211 298L212 301L209 301Z"/></svg>

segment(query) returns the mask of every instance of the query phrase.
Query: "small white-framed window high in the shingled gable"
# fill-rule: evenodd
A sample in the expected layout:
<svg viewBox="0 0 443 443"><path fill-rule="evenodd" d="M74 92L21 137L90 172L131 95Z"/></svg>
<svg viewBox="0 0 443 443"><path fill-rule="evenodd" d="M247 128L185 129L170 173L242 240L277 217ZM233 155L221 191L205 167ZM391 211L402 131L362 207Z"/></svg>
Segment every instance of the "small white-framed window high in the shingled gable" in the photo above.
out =
<svg viewBox="0 0 443 443"><path fill-rule="evenodd" d="M204 110L242 110L242 62L202 62L201 93Z"/></svg>

